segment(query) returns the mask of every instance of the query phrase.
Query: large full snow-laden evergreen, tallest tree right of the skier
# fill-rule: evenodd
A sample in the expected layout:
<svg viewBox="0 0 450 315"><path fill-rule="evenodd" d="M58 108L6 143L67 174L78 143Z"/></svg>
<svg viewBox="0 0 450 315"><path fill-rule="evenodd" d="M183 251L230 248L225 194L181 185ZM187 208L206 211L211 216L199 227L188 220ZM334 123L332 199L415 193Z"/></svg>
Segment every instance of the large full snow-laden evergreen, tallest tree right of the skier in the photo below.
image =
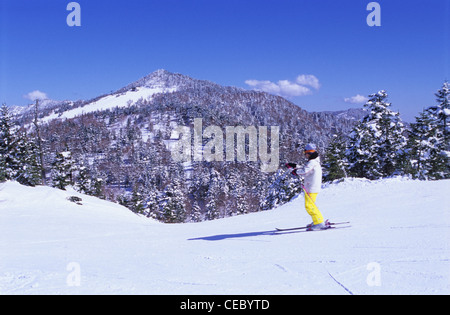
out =
<svg viewBox="0 0 450 315"><path fill-rule="evenodd" d="M368 115L350 134L347 157L353 176L378 179L402 172L405 159L405 127L392 111L386 91L369 95Z"/></svg>

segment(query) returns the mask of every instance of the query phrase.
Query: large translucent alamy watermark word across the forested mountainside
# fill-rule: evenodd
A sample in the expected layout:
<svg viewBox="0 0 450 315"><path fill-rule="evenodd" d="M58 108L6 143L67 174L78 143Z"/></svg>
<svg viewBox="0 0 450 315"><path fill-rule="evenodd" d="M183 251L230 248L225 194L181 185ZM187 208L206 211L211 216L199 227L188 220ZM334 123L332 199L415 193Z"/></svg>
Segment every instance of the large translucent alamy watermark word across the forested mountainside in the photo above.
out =
<svg viewBox="0 0 450 315"><path fill-rule="evenodd" d="M175 162L257 162L259 157L262 172L276 172L280 164L280 127L270 127L270 148L268 131L267 126L226 126L225 132L219 126L208 126L203 130L203 119L196 118L193 130L178 126L172 131L175 142L170 151ZM209 141L203 144L204 139Z"/></svg>

